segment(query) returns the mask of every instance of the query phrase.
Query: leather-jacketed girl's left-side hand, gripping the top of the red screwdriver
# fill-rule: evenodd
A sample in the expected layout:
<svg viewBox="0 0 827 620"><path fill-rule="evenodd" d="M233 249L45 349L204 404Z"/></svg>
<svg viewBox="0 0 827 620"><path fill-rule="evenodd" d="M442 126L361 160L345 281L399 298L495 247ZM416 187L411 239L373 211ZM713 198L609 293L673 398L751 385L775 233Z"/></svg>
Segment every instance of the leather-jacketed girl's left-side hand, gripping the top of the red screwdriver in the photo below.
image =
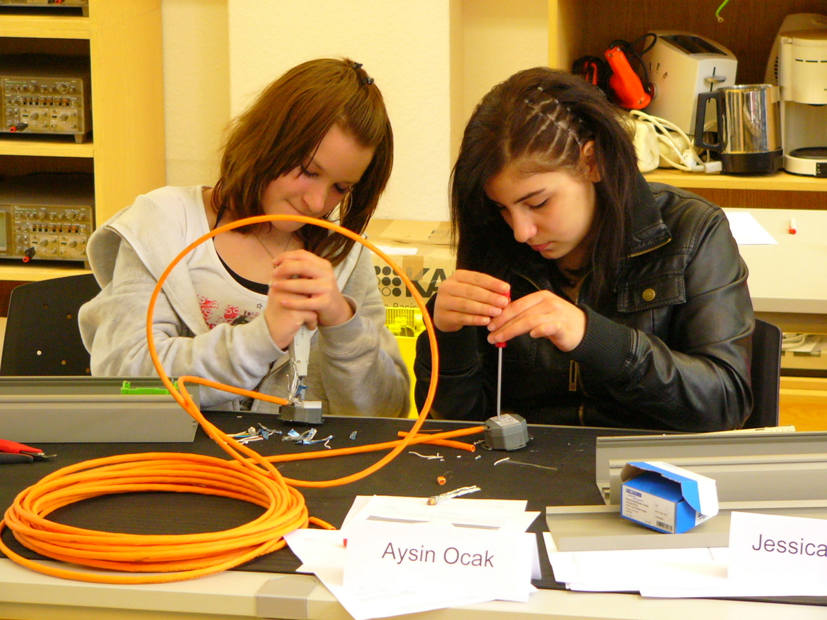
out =
<svg viewBox="0 0 827 620"><path fill-rule="evenodd" d="M508 305L507 282L477 271L457 269L439 285L433 324L439 331L457 331L466 325L488 325Z"/></svg>

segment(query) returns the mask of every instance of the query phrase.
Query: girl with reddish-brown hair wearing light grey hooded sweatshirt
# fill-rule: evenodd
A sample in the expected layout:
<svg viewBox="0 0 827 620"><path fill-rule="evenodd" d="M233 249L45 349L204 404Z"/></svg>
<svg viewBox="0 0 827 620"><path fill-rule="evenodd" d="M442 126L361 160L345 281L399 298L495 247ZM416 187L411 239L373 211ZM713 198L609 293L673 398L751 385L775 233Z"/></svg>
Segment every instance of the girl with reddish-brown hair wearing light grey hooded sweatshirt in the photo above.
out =
<svg viewBox="0 0 827 620"><path fill-rule="evenodd" d="M151 376L146 310L160 274L208 231L258 215L334 220L361 233L393 163L379 88L351 60L312 60L265 88L232 125L214 187L165 187L95 231L88 257L102 287L79 322L92 374ZM323 413L401 416L408 374L376 288L370 252L301 222L225 231L165 281L155 344L170 376L195 374L289 398L290 343L311 341L307 391ZM203 407L263 410L201 390Z"/></svg>

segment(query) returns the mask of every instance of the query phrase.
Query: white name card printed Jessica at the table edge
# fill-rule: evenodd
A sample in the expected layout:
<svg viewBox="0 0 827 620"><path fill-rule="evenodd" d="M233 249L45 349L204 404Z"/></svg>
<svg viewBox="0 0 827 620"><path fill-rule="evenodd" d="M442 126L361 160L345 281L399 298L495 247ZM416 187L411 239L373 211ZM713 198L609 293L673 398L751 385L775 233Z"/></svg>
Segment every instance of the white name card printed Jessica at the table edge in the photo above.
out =
<svg viewBox="0 0 827 620"><path fill-rule="evenodd" d="M825 594L827 520L732 513L728 576L801 595Z"/></svg>

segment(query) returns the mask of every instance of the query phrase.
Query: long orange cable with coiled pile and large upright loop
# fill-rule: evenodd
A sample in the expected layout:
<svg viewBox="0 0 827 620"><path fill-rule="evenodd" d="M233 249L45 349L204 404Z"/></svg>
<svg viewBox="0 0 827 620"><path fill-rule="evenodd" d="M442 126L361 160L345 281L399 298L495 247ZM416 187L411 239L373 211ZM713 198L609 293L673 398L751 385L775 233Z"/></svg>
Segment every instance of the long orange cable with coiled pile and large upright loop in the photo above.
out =
<svg viewBox="0 0 827 620"><path fill-rule="evenodd" d="M194 247L213 236L233 228L273 221L304 222L350 237L380 255L404 281L414 296L414 300L423 312L425 328L428 331L433 369L431 385L422 413L403 439L333 451L263 457L208 422L195 405L186 389L186 384L201 384L241 396L261 398L270 403L286 404L283 398L239 389L194 376L179 377L176 389L170 377L165 373L155 349L152 318L157 298L171 271ZM181 407L201 424L208 436L232 457L231 460L186 453L146 453L88 460L55 471L17 495L12 506L7 509L5 518L0 522L0 532L3 527L9 527L22 545L42 556L86 566L90 569L118 570L125 571L127 574L68 570L42 565L19 556L0 540L0 551L3 551L17 564L45 575L104 584L165 583L231 569L257 556L280 549L285 544L285 534L299 527L308 527L309 523L333 529L329 524L308 516L304 497L294 487L324 488L347 484L379 470L411 444L447 441L451 437L471 435L484 430L484 427L472 427L452 432L418 434L430 412L439 371L437 341L423 298L418 295L408 276L402 269L399 269L399 265L390 260L384 252L356 233L325 220L284 215L248 217L218 227L201 236L184 248L158 279L146 316L146 338L155 370L166 389ZM373 465L340 479L308 481L284 478L273 465L275 462L286 460L326 458L389 448L390 453ZM252 522L224 532L167 536L96 532L61 525L45 518L57 508L84 499L107 494L146 491L198 493L240 499L265 508L265 513ZM147 574L134 575L134 573Z"/></svg>

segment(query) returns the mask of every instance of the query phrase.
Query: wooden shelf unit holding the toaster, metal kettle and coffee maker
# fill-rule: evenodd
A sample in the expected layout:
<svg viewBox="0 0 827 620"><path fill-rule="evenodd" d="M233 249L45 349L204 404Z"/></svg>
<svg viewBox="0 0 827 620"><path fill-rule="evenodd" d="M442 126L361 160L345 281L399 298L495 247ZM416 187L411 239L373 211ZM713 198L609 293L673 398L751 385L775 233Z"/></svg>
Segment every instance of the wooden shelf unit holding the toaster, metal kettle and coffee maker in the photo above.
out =
<svg viewBox="0 0 827 620"><path fill-rule="evenodd" d="M616 39L634 41L653 30L709 37L738 59L737 83L762 83L778 27L791 13L827 13L824 0L549 0L548 64L571 69L582 55L602 55ZM761 6L758 7L757 4ZM827 209L827 179L781 172L772 176L695 174L658 169L647 178L690 188L725 207Z"/></svg>

